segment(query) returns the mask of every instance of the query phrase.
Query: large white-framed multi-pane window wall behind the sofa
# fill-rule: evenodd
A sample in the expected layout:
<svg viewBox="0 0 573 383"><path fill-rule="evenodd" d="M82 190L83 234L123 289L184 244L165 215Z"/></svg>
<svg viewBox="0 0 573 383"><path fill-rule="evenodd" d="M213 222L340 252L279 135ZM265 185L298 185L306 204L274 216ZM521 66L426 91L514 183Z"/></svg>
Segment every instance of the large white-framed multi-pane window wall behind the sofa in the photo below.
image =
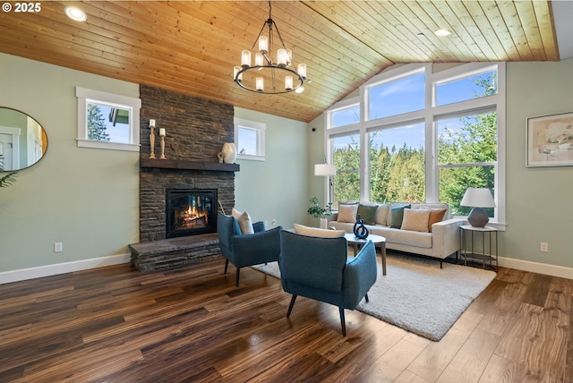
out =
<svg viewBox="0 0 573 383"><path fill-rule="evenodd" d="M487 187L497 207L486 212L503 224L504 76L504 64L441 71L408 64L382 72L363 85L360 98L331 108L326 139L337 166L334 205L442 202L452 215L466 216L471 208L459 205L466 189ZM351 110L357 117L338 115Z"/></svg>

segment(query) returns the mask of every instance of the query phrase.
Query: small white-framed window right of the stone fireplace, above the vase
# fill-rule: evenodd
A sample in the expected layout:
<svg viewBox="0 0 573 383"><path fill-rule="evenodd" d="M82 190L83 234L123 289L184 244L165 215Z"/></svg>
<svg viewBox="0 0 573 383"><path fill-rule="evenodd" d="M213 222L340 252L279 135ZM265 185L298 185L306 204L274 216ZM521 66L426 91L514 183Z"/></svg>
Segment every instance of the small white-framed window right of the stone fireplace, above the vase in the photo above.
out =
<svg viewBox="0 0 573 383"><path fill-rule="evenodd" d="M265 160L265 123L235 118L235 146L239 159Z"/></svg>

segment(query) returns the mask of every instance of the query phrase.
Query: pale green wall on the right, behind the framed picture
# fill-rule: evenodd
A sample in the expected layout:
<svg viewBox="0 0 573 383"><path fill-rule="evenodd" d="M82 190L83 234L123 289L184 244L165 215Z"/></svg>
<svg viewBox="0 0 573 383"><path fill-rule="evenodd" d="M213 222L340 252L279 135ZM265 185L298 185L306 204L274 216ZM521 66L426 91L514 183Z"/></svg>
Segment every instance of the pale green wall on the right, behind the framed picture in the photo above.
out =
<svg viewBox="0 0 573 383"><path fill-rule="evenodd" d="M507 65L507 221L500 254L573 268L573 166L526 167L526 118L573 112L573 58ZM549 243L549 252L540 243Z"/></svg>

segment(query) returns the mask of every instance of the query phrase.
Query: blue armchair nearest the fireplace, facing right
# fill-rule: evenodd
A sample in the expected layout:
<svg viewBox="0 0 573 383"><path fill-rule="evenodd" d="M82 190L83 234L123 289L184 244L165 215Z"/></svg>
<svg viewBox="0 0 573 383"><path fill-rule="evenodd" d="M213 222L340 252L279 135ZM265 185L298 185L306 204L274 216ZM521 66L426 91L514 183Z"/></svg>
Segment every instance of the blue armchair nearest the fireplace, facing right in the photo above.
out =
<svg viewBox="0 0 573 383"><path fill-rule="evenodd" d="M218 244L223 256L227 259L225 274L231 261L236 268L237 286L241 268L278 260L280 254L281 226L265 230L264 223L256 222L252 224L252 227L254 234L243 235L234 217L218 213Z"/></svg>

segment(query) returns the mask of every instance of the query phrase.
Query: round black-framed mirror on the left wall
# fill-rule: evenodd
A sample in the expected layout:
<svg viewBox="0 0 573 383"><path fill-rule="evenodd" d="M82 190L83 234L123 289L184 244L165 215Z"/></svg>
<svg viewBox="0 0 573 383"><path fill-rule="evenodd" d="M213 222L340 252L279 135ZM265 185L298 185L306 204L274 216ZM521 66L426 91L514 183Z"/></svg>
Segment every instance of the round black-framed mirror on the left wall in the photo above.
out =
<svg viewBox="0 0 573 383"><path fill-rule="evenodd" d="M0 107L0 166L4 172L36 164L47 150L47 135L30 115Z"/></svg>

